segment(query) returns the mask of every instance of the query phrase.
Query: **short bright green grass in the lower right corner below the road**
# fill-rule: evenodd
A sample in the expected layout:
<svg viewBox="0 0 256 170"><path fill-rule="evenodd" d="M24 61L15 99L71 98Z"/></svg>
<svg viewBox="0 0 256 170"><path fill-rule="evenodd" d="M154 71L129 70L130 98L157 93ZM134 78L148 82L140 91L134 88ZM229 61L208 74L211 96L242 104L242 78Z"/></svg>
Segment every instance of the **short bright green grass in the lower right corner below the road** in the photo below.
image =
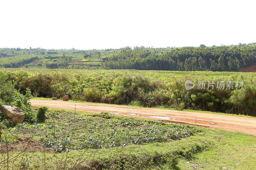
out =
<svg viewBox="0 0 256 170"><path fill-rule="evenodd" d="M192 159L180 159L178 166L181 169L195 165L202 169L255 169L255 136L225 131L221 133L219 130L216 133L209 136L217 139L211 148L194 155Z"/></svg>

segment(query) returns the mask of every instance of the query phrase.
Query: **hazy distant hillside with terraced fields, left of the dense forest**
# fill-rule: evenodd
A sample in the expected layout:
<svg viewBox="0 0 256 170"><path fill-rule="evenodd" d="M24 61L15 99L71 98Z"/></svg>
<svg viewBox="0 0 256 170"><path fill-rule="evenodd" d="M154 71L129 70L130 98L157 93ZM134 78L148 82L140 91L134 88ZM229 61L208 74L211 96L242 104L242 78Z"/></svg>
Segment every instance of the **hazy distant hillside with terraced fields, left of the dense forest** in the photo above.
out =
<svg viewBox="0 0 256 170"><path fill-rule="evenodd" d="M118 53L122 49L125 48L105 50L0 48L0 67L96 69L101 67L102 58L106 55ZM144 49L144 47L137 49ZM164 51L160 48L154 50Z"/></svg>

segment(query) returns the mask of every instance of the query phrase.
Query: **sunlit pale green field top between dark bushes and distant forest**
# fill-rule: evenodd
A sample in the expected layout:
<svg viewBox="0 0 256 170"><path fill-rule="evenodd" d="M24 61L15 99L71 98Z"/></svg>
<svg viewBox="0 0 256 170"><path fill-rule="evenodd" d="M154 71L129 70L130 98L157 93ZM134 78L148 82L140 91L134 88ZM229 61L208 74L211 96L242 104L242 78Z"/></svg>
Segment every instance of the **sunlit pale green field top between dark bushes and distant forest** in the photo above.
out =
<svg viewBox="0 0 256 170"><path fill-rule="evenodd" d="M78 74L83 77L98 77L102 75L105 78L115 78L119 75L131 76L137 75L143 78L148 78L152 81L161 81L163 84L172 84L174 81L197 81L197 80L237 80L242 77L244 81L251 80L255 77L254 72L213 72L213 71L156 71L156 70L81 70L81 69L45 69L45 68L2 68L7 71L26 71L28 73L51 73L58 72L61 75L66 75L66 77L73 78L74 75ZM254 83L254 81L252 81Z"/></svg>

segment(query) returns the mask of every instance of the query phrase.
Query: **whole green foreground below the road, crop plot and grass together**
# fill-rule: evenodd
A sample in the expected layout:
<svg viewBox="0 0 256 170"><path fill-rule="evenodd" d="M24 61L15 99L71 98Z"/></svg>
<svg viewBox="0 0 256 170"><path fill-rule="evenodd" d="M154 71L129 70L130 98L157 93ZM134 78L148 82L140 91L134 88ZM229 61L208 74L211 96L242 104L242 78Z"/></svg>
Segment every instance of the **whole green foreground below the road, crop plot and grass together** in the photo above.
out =
<svg viewBox="0 0 256 170"><path fill-rule="evenodd" d="M15 144L9 159L20 155L9 162L9 169L14 165L23 169L99 170L253 169L256 166L256 138L252 135L204 127L196 127L194 131L194 126L107 113L75 114L49 109L47 114L51 118L44 123L22 124L4 131L5 135L9 134L7 144ZM126 141L126 134L140 142ZM27 139L30 136L34 137ZM145 142L146 139L152 140ZM37 142L40 140L44 143ZM21 141L22 145L28 141L33 145L25 150L19 147ZM6 146L6 141L3 142ZM82 144L86 146L84 149ZM1 156L0 166L6 169L7 155Z"/></svg>

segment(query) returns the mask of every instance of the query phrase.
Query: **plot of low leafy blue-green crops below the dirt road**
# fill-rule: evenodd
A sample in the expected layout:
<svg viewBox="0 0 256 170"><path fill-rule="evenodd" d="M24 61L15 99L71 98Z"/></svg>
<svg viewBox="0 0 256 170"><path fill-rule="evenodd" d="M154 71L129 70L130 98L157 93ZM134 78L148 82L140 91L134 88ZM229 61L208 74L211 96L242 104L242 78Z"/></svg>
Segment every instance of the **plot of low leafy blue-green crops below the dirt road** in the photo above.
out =
<svg viewBox="0 0 256 170"><path fill-rule="evenodd" d="M116 117L104 112L89 115L89 117L83 115L79 117L73 115L72 117L70 113L66 113L65 117L53 115L56 113L58 114L58 112L50 114L59 117L61 122L57 119L54 123L60 124L61 128L59 130L54 129L54 127L51 128L52 130L49 130L46 137L41 138L40 141L57 152L167 142L192 135L192 129L187 126L177 128L170 124L137 120L132 117ZM152 124L154 125L152 126ZM71 133L66 129L72 125L75 126L73 127L75 129ZM61 138L55 136L61 136ZM70 136L73 137L74 141L69 140Z"/></svg>

